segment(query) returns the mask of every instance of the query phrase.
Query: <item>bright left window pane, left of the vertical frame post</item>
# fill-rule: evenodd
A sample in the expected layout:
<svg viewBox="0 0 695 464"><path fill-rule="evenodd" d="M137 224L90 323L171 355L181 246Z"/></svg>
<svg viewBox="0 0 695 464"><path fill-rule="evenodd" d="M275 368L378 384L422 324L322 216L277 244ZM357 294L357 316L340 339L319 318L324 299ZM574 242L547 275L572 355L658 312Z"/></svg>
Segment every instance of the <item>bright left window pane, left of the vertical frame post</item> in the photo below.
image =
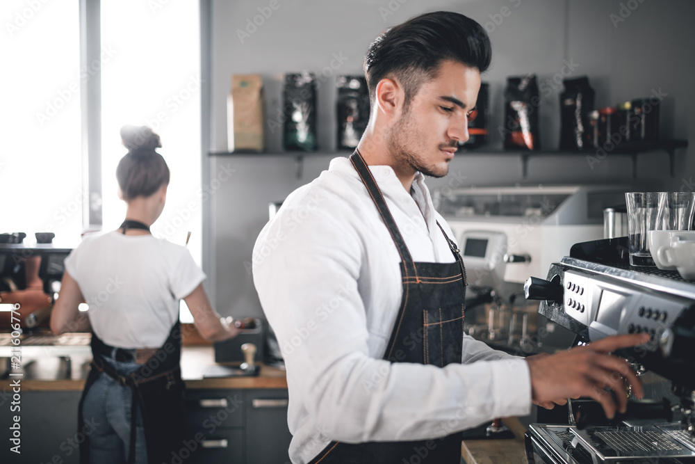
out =
<svg viewBox="0 0 695 464"><path fill-rule="evenodd" d="M82 232L79 2L3 0L0 233Z"/></svg>

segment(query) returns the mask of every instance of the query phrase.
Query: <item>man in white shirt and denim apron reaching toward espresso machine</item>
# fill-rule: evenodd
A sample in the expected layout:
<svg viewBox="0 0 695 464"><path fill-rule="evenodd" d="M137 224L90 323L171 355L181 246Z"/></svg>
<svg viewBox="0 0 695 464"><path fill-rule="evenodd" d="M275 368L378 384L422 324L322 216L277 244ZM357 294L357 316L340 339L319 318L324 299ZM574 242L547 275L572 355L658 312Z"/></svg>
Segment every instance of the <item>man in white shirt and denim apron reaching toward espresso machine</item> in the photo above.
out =
<svg viewBox="0 0 695 464"><path fill-rule="evenodd" d="M525 360L464 335L466 271L424 176L442 177L468 139L480 24L430 13L386 31L365 72L372 109L350 159L297 189L259 235L254 284L275 330L290 395L293 463L459 463L461 431L593 397L609 417L624 360L646 342L610 337Z"/></svg>

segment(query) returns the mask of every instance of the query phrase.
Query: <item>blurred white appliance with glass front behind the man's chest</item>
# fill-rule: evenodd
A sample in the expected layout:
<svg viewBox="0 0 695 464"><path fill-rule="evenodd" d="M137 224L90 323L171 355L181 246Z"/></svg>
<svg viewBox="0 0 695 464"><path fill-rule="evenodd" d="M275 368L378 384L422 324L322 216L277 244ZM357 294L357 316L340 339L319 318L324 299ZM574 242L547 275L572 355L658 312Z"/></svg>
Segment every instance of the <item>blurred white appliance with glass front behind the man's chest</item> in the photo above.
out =
<svg viewBox="0 0 695 464"><path fill-rule="evenodd" d="M464 233L488 231L506 237L505 252L499 248L493 257L504 265L502 281L514 284L508 295L521 294L529 275L543 275L574 243L603 237L603 209L624 203L627 189L620 185L444 187L434 190L433 201L464 250L469 274L482 262L466 253Z"/></svg>

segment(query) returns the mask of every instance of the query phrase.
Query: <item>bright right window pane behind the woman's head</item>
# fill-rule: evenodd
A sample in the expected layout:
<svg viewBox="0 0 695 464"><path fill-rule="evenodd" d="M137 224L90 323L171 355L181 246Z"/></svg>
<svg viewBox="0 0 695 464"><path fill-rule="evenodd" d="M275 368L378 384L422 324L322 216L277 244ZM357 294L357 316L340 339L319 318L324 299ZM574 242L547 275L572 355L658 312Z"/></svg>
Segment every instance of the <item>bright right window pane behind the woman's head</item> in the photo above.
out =
<svg viewBox="0 0 695 464"><path fill-rule="evenodd" d="M126 154L120 128L147 125L161 137L158 151L171 170L167 204L152 233L186 243L200 265L200 32L198 0L101 0L101 140L104 230L125 217L116 166ZM181 321L192 322L181 302Z"/></svg>

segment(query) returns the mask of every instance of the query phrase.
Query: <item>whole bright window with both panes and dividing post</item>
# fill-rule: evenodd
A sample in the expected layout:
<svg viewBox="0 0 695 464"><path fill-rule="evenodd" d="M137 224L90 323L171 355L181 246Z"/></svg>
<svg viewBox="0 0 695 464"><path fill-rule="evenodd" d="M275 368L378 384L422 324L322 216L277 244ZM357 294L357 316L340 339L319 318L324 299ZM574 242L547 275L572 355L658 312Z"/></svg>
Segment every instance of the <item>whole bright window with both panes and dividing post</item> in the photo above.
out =
<svg viewBox="0 0 695 464"><path fill-rule="evenodd" d="M188 248L200 265L199 1L89 5L99 3L101 51L84 69L79 1L6 0L0 7L1 56L12 63L0 78L6 90L0 115L0 233L25 232L31 244L34 232L54 232L56 245L79 244L88 226L81 90L100 75L103 229L118 227L126 211L115 179L126 153L120 128L147 125L161 136L159 150L171 170L167 205L152 232L181 245L191 232ZM91 202L99 208L99 198ZM182 307L181 321L193 321Z"/></svg>

